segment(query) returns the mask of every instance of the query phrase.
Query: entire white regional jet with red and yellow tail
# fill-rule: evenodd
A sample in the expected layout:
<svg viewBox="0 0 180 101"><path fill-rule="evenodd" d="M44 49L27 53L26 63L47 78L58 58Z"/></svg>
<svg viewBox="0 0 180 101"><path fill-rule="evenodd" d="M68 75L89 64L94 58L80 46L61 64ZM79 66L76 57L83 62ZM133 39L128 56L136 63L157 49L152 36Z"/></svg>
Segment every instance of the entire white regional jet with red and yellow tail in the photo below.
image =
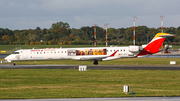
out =
<svg viewBox="0 0 180 101"><path fill-rule="evenodd" d="M13 65L15 65L15 61L65 59L94 61L94 64L97 65L98 61L131 58L157 53L167 36L174 36L174 34L157 33L147 45L142 46L21 49L7 56L5 60L13 62Z"/></svg>

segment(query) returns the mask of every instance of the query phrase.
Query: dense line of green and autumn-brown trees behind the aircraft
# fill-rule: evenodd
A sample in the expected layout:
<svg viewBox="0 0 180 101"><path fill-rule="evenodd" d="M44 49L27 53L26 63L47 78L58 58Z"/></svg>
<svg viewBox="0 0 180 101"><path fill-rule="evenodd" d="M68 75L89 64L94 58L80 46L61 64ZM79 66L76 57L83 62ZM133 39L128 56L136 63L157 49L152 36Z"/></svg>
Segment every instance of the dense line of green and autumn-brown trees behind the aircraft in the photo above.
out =
<svg viewBox="0 0 180 101"><path fill-rule="evenodd" d="M136 26L136 45L149 42L161 28ZM180 27L163 28L163 32L175 34L168 37L165 44L180 45ZM108 45L132 45L133 27L108 28ZM97 45L106 44L106 30L96 26ZM49 29L10 30L0 28L1 45L92 45L94 44L94 26L84 26L80 29L70 28L68 23L53 23Z"/></svg>

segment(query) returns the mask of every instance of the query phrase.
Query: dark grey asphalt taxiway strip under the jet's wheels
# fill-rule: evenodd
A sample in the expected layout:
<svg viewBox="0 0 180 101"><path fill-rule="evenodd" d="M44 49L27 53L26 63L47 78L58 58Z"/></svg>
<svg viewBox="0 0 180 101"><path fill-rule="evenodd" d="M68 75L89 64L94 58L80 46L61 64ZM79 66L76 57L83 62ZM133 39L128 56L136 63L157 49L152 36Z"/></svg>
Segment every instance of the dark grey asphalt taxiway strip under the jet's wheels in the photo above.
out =
<svg viewBox="0 0 180 101"><path fill-rule="evenodd" d="M10 65L0 64L1 69L78 69L79 65ZM87 65L87 69L121 70L180 70L180 65Z"/></svg>

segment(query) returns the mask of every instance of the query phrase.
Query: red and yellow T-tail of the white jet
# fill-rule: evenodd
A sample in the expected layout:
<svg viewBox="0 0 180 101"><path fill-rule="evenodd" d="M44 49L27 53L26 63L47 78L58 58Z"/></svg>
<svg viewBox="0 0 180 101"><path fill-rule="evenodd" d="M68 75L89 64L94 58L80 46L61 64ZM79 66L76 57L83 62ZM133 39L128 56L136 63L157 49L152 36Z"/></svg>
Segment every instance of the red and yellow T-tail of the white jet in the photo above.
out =
<svg viewBox="0 0 180 101"><path fill-rule="evenodd" d="M144 50L141 51L137 56L154 54L159 52L161 45L163 44L165 38L168 36L175 35L169 33L157 33L156 36L147 45L142 45Z"/></svg>

